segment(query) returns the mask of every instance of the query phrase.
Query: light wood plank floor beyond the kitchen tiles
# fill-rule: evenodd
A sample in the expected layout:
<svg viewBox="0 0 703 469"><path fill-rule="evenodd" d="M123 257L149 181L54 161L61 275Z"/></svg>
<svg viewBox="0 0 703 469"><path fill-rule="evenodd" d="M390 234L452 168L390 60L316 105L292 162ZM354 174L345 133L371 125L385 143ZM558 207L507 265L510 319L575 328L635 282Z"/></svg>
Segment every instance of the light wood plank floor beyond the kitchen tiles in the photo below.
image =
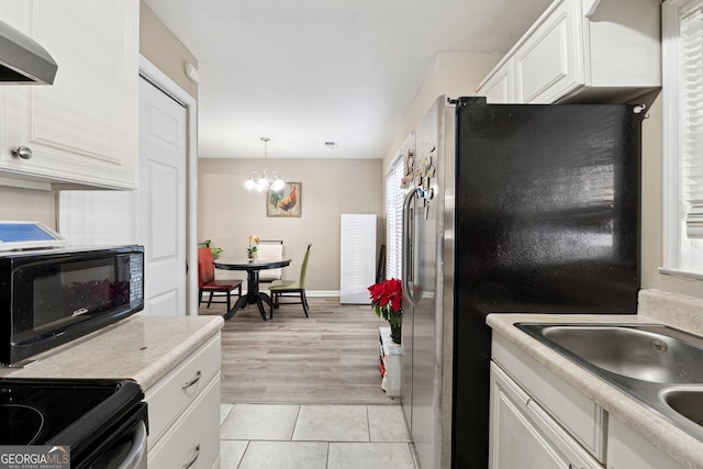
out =
<svg viewBox="0 0 703 469"><path fill-rule="evenodd" d="M310 298L281 305L265 322L254 306L222 331L222 402L290 404L399 404L380 388L378 326L369 305ZM201 314L223 314L213 304Z"/></svg>

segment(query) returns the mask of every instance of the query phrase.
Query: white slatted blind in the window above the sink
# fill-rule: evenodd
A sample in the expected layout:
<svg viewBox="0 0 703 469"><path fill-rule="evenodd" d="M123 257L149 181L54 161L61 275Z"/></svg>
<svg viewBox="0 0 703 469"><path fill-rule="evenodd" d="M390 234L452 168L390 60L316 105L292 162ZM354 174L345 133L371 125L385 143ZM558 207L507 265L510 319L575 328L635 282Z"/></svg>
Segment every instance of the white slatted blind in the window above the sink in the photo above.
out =
<svg viewBox="0 0 703 469"><path fill-rule="evenodd" d="M703 238L703 1L689 2L680 19L679 127L681 203L685 236ZM685 241L683 241L685 243ZM691 246L702 250L702 246ZM699 253L700 255L700 253Z"/></svg>

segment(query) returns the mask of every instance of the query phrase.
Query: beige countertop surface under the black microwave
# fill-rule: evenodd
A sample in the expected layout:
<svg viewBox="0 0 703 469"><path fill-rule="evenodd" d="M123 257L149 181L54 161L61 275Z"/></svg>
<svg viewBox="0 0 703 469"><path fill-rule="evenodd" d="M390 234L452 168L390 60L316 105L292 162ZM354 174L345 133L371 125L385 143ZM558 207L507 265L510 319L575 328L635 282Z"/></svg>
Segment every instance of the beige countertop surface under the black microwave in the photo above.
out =
<svg viewBox="0 0 703 469"><path fill-rule="evenodd" d="M132 379L146 391L220 332L221 316L130 316L86 337L33 357L3 378Z"/></svg>

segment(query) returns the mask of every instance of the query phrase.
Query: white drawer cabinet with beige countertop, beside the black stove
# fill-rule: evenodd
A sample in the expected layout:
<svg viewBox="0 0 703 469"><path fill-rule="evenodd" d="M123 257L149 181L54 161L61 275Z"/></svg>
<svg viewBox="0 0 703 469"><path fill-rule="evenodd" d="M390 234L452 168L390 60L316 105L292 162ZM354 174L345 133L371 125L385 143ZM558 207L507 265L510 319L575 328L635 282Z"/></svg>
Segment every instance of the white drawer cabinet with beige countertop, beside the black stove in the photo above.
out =
<svg viewBox="0 0 703 469"><path fill-rule="evenodd" d="M149 467L220 465L221 316L130 316L3 378L130 379L148 404Z"/></svg>

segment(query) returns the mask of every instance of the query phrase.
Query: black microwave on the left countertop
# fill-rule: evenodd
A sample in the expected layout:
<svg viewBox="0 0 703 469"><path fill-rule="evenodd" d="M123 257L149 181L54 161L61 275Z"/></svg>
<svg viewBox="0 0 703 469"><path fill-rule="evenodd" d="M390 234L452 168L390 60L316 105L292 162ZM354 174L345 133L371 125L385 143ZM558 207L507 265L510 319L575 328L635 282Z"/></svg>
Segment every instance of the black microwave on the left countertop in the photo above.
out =
<svg viewBox="0 0 703 469"><path fill-rule="evenodd" d="M41 351L144 309L144 247L0 255L0 364Z"/></svg>

